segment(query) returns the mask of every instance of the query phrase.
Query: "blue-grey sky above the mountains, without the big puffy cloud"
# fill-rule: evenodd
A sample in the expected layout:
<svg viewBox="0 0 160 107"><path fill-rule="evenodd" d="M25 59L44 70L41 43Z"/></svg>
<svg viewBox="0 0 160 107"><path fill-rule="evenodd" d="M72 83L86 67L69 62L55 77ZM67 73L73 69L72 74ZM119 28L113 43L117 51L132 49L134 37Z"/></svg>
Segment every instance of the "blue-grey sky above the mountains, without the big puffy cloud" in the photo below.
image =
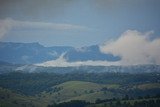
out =
<svg viewBox="0 0 160 107"><path fill-rule="evenodd" d="M159 0L0 0L0 41L89 46L127 30L160 36Z"/></svg>

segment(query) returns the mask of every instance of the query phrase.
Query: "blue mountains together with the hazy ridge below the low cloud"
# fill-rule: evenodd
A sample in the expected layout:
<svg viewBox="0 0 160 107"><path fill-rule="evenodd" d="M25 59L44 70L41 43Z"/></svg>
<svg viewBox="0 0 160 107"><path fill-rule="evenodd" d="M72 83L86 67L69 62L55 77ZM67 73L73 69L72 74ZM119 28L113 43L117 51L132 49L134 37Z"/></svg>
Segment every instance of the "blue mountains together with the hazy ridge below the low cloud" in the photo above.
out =
<svg viewBox="0 0 160 107"><path fill-rule="evenodd" d="M63 55L65 61L61 61ZM59 61L60 60L60 61ZM53 46L44 47L39 43L11 43L0 42L0 74L12 71L23 72L54 72L54 73L69 73L69 72L159 72L160 65L81 65L87 61L102 61L115 62L119 61L119 56L112 54L101 53L98 45L74 48L70 46ZM62 66L43 66L45 62ZM79 62L78 62L79 61ZM78 62L78 64L77 64ZM42 63L39 66L38 63ZM74 66L76 64L78 66ZM88 63L88 62L87 62ZM90 63L90 62L89 62ZM92 63L92 62L91 62ZM50 64L50 63L46 63ZM63 65L73 66L63 66Z"/></svg>

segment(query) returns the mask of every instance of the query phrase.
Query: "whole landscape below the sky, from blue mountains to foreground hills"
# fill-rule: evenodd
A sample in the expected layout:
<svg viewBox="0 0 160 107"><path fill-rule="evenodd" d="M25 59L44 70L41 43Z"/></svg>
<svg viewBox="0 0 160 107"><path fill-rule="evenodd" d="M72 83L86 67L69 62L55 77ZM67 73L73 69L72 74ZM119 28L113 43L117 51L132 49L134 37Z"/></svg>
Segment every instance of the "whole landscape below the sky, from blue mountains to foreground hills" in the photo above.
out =
<svg viewBox="0 0 160 107"><path fill-rule="evenodd" d="M0 42L0 52L0 107L134 107L135 101L159 101L160 65L110 65L121 58L98 45Z"/></svg>

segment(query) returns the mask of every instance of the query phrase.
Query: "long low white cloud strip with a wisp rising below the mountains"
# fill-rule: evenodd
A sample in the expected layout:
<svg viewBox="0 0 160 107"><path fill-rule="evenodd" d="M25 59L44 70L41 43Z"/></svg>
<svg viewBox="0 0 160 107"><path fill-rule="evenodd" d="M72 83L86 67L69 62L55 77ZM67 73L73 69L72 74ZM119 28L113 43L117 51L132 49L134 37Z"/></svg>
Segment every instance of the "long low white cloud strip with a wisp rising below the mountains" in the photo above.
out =
<svg viewBox="0 0 160 107"><path fill-rule="evenodd" d="M119 65L119 62L107 62L107 61L76 61L76 62L67 62L62 54L58 59L47 61L40 64L35 64L36 66L44 67L75 67L75 66L110 66L110 65Z"/></svg>

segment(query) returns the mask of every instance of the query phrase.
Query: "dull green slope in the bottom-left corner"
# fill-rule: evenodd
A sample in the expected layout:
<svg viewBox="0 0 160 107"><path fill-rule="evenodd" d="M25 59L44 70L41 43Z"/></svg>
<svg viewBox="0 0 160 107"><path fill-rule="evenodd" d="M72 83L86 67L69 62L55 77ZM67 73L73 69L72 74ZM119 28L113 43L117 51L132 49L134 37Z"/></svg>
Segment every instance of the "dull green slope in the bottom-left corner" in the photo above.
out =
<svg viewBox="0 0 160 107"><path fill-rule="evenodd" d="M0 107L42 107L42 105L33 96L25 96L0 88Z"/></svg>

